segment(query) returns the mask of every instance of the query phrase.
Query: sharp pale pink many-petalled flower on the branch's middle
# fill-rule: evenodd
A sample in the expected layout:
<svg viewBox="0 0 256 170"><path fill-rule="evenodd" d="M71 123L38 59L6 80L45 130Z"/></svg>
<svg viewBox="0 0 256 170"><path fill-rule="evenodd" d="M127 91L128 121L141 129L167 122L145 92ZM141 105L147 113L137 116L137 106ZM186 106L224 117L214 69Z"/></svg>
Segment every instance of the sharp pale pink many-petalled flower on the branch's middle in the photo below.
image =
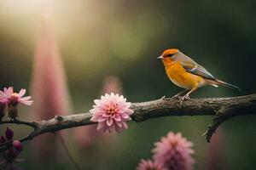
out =
<svg viewBox="0 0 256 170"><path fill-rule="evenodd" d="M93 114L90 121L98 122L97 130L119 132L128 128L126 122L131 121L133 111L129 109L131 103L126 102L123 95L105 94L101 99L95 99L94 102L96 105L93 105L93 109L90 110Z"/></svg>

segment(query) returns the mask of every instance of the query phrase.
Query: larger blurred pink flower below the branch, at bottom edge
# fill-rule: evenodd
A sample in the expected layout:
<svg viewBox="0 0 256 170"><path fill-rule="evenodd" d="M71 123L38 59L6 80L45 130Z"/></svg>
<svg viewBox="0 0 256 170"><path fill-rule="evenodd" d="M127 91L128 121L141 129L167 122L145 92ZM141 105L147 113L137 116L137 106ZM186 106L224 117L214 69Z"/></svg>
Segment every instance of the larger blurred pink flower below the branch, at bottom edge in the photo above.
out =
<svg viewBox="0 0 256 170"><path fill-rule="evenodd" d="M192 143L183 138L181 133L168 133L160 142L155 143L153 159L168 170L193 169L194 159L191 154Z"/></svg>

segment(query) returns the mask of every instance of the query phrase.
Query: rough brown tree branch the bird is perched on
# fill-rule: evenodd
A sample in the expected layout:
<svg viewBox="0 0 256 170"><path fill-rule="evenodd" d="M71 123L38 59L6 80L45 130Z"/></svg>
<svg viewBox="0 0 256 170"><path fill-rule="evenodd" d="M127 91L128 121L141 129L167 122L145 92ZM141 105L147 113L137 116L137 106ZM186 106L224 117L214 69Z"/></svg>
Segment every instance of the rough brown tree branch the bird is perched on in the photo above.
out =
<svg viewBox="0 0 256 170"><path fill-rule="evenodd" d="M183 102L182 108L179 107L179 99L164 97L153 101L132 103L131 109L134 114L131 118L132 121L143 122L162 116L215 116L204 134L207 136L207 141L210 142L212 134L221 123L233 116L256 114L256 94L231 98L189 99ZM96 122L90 122L91 116L90 113L81 113L55 116L52 119L40 122L4 121L0 124L15 123L33 127L32 133L20 139L21 142L25 142L42 133L55 133L66 128L95 124ZM0 149L4 145L6 144L0 144Z"/></svg>

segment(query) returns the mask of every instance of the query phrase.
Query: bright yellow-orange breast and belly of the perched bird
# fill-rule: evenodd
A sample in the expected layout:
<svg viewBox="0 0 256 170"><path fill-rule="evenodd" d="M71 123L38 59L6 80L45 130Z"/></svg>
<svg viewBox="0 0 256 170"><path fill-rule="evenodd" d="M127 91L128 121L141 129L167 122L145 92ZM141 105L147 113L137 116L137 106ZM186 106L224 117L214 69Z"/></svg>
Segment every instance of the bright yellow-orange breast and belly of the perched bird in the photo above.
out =
<svg viewBox="0 0 256 170"><path fill-rule="evenodd" d="M181 88L192 89L204 85L202 77L187 72L178 61L165 64L165 69L170 80Z"/></svg>

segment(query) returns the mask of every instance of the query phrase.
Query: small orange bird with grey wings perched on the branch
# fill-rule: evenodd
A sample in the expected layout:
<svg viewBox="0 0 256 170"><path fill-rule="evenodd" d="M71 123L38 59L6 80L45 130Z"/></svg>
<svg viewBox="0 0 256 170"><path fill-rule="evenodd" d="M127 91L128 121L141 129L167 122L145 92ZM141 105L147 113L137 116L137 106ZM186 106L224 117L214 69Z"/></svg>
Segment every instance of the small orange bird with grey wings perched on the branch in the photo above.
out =
<svg viewBox="0 0 256 170"><path fill-rule="evenodd" d="M177 48L166 49L157 59L162 60L167 77L178 87L185 88L184 91L172 97L172 99L180 99L180 108L183 105L183 100L190 99L189 94L203 86L212 85L215 88L224 86L241 90L228 82L213 77L207 69L197 64ZM184 95L181 96L182 94Z"/></svg>

